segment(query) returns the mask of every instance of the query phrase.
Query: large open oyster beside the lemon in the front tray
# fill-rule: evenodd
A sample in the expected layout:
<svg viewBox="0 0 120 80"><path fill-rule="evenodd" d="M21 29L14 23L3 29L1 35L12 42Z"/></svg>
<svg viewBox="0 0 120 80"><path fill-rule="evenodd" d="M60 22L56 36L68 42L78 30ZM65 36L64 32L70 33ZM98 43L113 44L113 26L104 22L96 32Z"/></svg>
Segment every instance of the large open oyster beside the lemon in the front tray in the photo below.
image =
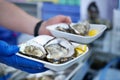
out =
<svg viewBox="0 0 120 80"><path fill-rule="evenodd" d="M47 58L50 61L60 61L62 58L68 58L74 54L73 45L64 38L54 38L48 41L44 48L48 53Z"/></svg>

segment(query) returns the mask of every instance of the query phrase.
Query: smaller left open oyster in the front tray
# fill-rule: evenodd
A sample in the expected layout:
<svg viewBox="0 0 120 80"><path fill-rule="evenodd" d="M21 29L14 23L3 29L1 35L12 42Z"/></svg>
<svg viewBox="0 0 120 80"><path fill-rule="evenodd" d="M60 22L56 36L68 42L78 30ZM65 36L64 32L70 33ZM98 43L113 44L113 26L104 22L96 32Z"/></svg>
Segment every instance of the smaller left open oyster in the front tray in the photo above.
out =
<svg viewBox="0 0 120 80"><path fill-rule="evenodd" d="M29 43L24 46L24 51L22 51L24 55L37 57L37 58L44 58L46 56L46 51L44 47L37 43Z"/></svg>

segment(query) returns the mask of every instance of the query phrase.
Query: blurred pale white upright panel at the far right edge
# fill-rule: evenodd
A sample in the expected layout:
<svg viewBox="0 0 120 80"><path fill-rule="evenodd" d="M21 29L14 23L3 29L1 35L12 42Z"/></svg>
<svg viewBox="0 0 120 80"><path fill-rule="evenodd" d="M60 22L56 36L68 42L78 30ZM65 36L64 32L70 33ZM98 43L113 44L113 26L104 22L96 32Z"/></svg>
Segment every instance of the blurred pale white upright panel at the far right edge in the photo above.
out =
<svg viewBox="0 0 120 80"><path fill-rule="evenodd" d="M111 52L120 55L120 11L114 10Z"/></svg>

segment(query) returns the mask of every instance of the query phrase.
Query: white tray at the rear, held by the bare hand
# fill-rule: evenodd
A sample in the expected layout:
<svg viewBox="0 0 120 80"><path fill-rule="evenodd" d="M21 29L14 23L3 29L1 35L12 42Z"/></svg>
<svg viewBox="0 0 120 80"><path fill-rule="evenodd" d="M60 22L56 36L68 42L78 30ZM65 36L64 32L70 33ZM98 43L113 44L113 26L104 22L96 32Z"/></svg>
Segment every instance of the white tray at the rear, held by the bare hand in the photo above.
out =
<svg viewBox="0 0 120 80"><path fill-rule="evenodd" d="M71 25L74 25L75 23L72 23ZM88 44L99 38L102 33L105 31L107 28L105 25L98 25L98 24L90 24L90 29L96 29L98 30L98 33L95 36L81 36L81 35L75 35L67 32L62 32L59 30L56 30L56 27L61 26L61 27L68 27L67 24L65 23L60 23L60 24L55 24L51 26L47 26L47 29L51 32L51 34L55 37L65 37L68 40L75 41L78 43L84 43Z"/></svg>

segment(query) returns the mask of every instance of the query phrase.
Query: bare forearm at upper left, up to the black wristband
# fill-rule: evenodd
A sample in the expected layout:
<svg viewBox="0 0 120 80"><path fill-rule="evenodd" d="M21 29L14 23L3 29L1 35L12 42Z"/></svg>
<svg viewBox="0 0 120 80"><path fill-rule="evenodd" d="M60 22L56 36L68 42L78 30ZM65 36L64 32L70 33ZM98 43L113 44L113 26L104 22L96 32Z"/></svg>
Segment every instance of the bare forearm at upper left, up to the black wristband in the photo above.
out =
<svg viewBox="0 0 120 80"><path fill-rule="evenodd" d="M39 19L28 15L9 2L0 0L0 25L14 31L33 34L37 22Z"/></svg>

